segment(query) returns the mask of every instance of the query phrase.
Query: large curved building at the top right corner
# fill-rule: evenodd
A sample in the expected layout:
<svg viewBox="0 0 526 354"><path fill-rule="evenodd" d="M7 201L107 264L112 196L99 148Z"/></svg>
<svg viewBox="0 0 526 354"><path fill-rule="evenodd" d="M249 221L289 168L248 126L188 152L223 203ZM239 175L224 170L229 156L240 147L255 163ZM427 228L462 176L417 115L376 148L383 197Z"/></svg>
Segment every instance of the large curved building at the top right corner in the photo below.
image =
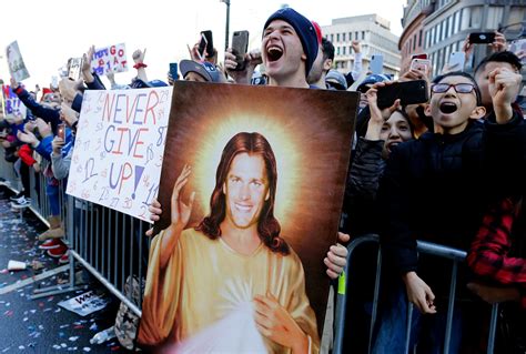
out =
<svg viewBox="0 0 526 354"><path fill-rule="evenodd" d="M436 75L452 52L462 51L471 32L489 32L510 24L520 27L525 20L525 0L408 0L402 19L404 32L398 42L402 71L409 68L413 54L426 52L432 60L432 73ZM505 32L505 36L509 41L517 33ZM488 45L475 45L466 71L473 71L489 53Z"/></svg>

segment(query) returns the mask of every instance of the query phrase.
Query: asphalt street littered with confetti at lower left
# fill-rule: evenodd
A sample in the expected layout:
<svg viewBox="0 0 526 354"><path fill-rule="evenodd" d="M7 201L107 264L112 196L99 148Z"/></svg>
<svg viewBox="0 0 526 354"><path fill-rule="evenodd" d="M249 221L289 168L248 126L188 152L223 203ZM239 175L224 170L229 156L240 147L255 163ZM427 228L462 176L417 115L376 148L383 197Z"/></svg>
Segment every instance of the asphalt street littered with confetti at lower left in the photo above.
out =
<svg viewBox="0 0 526 354"><path fill-rule="evenodd" d="M75 269L75 273L85 282L85 289L31 299L36 289L65 283L69 272L57 272L58 261L38 249L38 235L47 230L45 225L30 210L20 219L20 213L11 210L10 195L9 190L0 188L0 353L128 353L115 338L90 344L95 333L113 325L119 301L82 269ZM27 263L27 270L8 271L10 260ZM43 267L38 269L38 263ZM48 274L51 276L34 281ZM90 290L103 293L109 302L104 309L80 316L58 305Z"/></svg>

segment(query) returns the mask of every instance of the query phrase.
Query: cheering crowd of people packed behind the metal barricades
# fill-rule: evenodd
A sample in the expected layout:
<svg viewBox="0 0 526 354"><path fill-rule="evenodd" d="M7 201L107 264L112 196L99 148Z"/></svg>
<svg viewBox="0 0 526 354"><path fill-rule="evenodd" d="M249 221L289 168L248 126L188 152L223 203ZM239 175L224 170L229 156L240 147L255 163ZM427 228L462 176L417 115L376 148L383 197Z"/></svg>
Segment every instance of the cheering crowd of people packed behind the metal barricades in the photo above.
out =
<svg viewBox="0 0 526 354"><path fill-rule="evenodd" d="M357 41L352 45L353 69L347 74L332 69L333 44L316 22L291 8L276 11L263 28L261 48L244 57L242 70L232 49L220 63L216 50L201 60L196 44L191 58L180 62L181 78L169 74L168 83L149 81L145 51L138 50L133 53L136 77L120 85L110 74L111 89L188 80L345 91L366 70ZM481 350L487 326L478 320L484 313L482 301L512 302L517 311L526 309L522 208L526 112L516 103L523 65L516 53L507 51L503 38L497 33L492 53L473 75L447 67L436 78L431 78L431 68L425 67L401 73L398 81L427 82L427 102L402 105L404 98L399 98L387 108L378 108L380 92L393 81L387 75L368 74L357 83L362 99L342 211L345 222L338 239L344 244L364 234L381 236L386 275L374 353L404 351L409 303L418 310L413 313L411 346L417 345L422 353L443 351L449 279L444 277L442 261L418 255L416 240L468 251L466 266L461 269L462 301L453 315L451 353ZM473 44L468 39L464 48L469 55ZM40 247L61 263L68 262L68 245L60 220L59 181L68 178L83 92L107 90L91 69L93 52L91 47L84 54L80 81L64 78L58 87L29 92L11 79L11 89L28 108L28 117L0 122L6 160L13 163L23 185L12 198L12 206L29 204L29 174L42 173L51 215L50 230L39 237L43 241ZM49 162L43 171L42 160ZM159 219L161 205L154 201L151 211L152 219ZM332 279L337 279L346 264L347 251L342 244L331 247L324 260ZM469 314L477 314L477 321ZM524 326L524 317L522 322L514 325ZM290 347L287 338L269 337L277 346ZM301 344L297 351L317 350L320 340L313 335Z"/></svg>

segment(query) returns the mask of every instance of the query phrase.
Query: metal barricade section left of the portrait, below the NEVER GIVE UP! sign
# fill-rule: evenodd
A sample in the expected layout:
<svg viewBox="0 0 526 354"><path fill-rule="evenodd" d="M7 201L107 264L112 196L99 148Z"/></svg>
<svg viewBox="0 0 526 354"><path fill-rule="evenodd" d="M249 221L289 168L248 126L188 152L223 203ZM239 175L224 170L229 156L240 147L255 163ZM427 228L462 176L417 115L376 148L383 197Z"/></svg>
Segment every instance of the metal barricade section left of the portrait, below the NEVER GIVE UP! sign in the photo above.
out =
<svg viewBox="0 0 526 354"><path fill-rule="evenodd" d="M3 152L3 151L2 151ZM29 169L30 209L45 225L52 214L43 171L49 163L42 161L41 172ZM13 192L22 189L14 164L0 158L0 176ZM75 263L81 264L102 285L122 301L135 315L141 316L142 292L133 299L127 293L127 279L134 276L143 289L148 265L149 239L144 232L150 227L132 216L65 194L65 183L58 185L61 225L65 231L64 242L69 247L69 282L37 289L32 299L45 297L85 287L75 279ZM23 215L23 209L20 210Z"/></svg>

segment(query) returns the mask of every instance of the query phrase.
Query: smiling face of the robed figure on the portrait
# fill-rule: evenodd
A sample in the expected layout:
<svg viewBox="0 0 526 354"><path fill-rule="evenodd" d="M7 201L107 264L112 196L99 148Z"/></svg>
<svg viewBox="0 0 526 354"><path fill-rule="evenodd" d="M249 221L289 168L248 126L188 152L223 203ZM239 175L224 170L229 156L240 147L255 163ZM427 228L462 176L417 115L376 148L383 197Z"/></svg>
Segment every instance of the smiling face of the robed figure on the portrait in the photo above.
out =
<svg viewBox="0 0 526 354"><path fill-rule="evenodd" d="M237 154L223 184L226 219L237 229L257 225L261 211L269 200L269 180L261 155Z"/></svg>

